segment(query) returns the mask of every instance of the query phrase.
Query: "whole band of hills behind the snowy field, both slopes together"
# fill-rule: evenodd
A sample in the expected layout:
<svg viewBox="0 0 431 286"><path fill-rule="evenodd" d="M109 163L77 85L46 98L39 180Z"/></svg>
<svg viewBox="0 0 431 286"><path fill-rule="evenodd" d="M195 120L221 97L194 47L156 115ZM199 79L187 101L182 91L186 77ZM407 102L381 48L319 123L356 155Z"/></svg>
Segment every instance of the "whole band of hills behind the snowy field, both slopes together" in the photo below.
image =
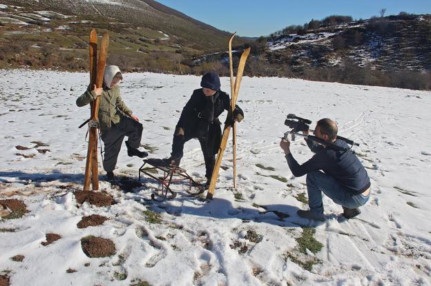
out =
<svg viewBox="0 0 431 286"><path fill-rule="evenodd" d="M431 89L429 14L332 16L292 27L257 41L236 37L234 65L251 46L249 76ZM108 64L124 71L229 74L229 32L152 0L3 1L0 68L88 70L90 28L109 32Z"/></svg>

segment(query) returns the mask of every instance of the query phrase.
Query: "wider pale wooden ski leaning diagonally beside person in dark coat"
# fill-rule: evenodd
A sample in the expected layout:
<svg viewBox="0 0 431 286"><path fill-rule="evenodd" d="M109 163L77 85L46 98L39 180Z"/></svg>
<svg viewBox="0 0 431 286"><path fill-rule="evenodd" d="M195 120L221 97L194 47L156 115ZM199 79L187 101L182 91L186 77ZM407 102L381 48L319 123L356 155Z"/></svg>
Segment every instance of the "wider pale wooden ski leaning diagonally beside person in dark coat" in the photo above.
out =
<svg viewBox="0 0 431 286"><path fill-rule="evenodd" d="M238 65L238 71L236 72L235 87L233 90L232 100L231 100L231 104L233 106L236 105L236 99L238 99L238 92L240 91L242 73L244 72L245 62L247 61L247 57L249 57L249 54L250 54L250 48L245 49L244 52L242 52L241 54L240 63ZM227 116L231 116L231 113L232 111L229 110ZM222 142L220 143L220 148L218 149L217 159L215 159L213 175L211 176L211 183L209 184L207 200L211 200L215 192L215 183L217 183L218 172L220 170L220 165L222 163L224 149L226 149L227 139L229 139L230 130L231 130L231 125L225 123L223 128Z"/></svg>

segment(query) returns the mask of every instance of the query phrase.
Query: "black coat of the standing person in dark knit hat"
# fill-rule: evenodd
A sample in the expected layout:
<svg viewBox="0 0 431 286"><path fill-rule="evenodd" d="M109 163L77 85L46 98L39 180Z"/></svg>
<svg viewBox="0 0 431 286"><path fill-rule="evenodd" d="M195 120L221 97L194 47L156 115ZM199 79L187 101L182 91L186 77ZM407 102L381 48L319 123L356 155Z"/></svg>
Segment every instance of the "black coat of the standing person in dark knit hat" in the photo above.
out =
<svg viewBox="0 0 431 286"><path fill-rule="evenodd" d="M209 104L209 101L212 102L212 105ZM207 137L209 149L217 153L222 138L218 116L230 108L231 101L226 92L219 90L213 96L208 97L205 96L202 88L199 88L191 94L176 127L181 127L186 137ZM236 106L236 112L244 116L238 106Z"/></svg>

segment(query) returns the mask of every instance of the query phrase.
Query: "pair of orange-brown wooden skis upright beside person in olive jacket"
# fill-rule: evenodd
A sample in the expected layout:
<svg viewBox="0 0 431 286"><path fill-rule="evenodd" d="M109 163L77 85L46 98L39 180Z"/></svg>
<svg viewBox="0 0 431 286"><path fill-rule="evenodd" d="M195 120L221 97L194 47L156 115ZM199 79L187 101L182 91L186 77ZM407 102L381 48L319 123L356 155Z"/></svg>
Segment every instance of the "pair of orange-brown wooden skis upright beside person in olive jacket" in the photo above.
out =
<svg viewBox="0 0 431 286"><path fill-rule="evenodd" d="M109 36L106 32L102 37L102 43L99 50L99 59L97 57L97 34L93 29L90 32L90 84L93 89L102 88L103 78L106 65L106 54L108 53ZM97 62L97 65L96 65ZM94 80L94 82L93 82ZM97 129L99 124L99 97L91 105L90 118L90 136L88 138L88 149L86 159L86 172L84 176L84 191L90 190L90 179L93 181L93 190L99 190L99 170L97 164Z"/></svg>

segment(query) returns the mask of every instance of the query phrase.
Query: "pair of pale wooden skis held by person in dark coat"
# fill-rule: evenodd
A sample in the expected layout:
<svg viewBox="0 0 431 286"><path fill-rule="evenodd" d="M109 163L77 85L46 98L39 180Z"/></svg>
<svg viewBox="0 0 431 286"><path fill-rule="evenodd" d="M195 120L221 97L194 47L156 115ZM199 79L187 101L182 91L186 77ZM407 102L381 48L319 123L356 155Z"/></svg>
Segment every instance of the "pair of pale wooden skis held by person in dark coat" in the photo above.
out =
<svg viewBox="0 0 431 286"><path fill-rule="evenodd" d="M244 72L245 68L245 62L247 61L247 57L249 57L250 54L250 48L247 48L242 52L240 63L238 65L238 70L236 72L236 79L233 81L233 63L232 63L232 40L233 37L235 37L236 33L233 33L231 38L229 39L229 70L230 70L230 76L231 76L231 110L229 110L229 113L227 114L228 118L230 119L233 110L235 110L236 106L236 100L238 99L238 92L240 91L240 85L241 85L241 79L242 74ZM218 172L220 170L220 165L222 163L222 157L224 150L226 149L227 145L227 139L229 139L229 132L232 127L232 135L233 135L233 187L236 187L236 123L234 122L231 126L228 123L224 124L223 128L223 135L222 135L222 142L220 143L220 148L218 150L217 159L215 159L215 166L213 170L213 175L211 176L211 183L209 185L208 193L207 193L207 199L213 198L213 194L215 192L215 183L217 183L218 178Z"/></svg>

